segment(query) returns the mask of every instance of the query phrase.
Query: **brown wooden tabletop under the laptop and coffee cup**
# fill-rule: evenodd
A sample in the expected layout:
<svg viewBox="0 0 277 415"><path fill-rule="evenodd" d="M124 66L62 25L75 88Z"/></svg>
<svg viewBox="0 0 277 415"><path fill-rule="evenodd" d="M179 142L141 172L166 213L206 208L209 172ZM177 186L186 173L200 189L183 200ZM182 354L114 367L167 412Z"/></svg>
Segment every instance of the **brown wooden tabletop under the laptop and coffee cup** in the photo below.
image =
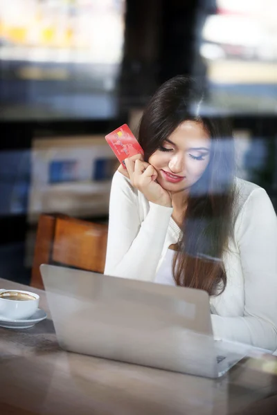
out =
<svg viewBox="0 0 277 415"><path fill-rule="evenodd" d="M0 288L28 289L4 279ZM271 356L244 360L211 380L62 351L44 291L31 291L48 319L31 329L0 328L0 414L224 415L277 394Z"/></svg>

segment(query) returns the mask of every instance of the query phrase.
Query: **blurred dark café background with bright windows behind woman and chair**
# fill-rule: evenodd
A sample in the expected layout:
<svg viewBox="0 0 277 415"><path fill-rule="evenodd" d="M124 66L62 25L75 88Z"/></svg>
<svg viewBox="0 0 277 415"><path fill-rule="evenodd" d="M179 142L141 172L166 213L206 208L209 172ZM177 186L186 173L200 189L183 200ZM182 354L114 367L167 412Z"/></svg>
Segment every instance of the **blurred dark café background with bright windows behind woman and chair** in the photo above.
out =
<svg viewBox="0 0 277 415"><path fill-rule="evenodd" d="M39 214L107 223L116 159L178 74L228 115L238 175L277 210L276 0L0 0L0 277L28 284Z"/></svg>

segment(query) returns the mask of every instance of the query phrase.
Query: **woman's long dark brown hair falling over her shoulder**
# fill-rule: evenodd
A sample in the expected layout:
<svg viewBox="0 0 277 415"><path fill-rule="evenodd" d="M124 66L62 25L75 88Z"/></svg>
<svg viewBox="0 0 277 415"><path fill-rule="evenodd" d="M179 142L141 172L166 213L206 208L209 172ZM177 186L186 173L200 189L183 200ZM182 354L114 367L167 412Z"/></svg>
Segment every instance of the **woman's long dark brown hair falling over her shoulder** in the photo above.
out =
<svg viewBox="0 0 277 415"><path fill-rule="evenodd" d="M197 92L198 91L198 92ZM211 137L208 167L190 188L172 273L177 285L199 288L210 295L226 287L222 257L233 236L235 201L234 149L229 122L201 113L205 103L195 81L177 76L165 82L148 103L139 126L145 160L186 120L202 122Z"/></svg>

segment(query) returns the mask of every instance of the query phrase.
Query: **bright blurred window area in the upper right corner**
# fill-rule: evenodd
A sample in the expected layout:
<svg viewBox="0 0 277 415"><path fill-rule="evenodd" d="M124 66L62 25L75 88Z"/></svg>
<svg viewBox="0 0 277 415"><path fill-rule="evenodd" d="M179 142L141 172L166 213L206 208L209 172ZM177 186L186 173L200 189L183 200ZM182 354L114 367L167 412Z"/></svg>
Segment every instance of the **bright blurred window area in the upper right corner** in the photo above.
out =
<svg viewBox="0 0 277 415"><path fill-rule="evenodd" d="M211 103L231 112L274 113L277 106L277 3L217 0L202 28Z"/></svg>

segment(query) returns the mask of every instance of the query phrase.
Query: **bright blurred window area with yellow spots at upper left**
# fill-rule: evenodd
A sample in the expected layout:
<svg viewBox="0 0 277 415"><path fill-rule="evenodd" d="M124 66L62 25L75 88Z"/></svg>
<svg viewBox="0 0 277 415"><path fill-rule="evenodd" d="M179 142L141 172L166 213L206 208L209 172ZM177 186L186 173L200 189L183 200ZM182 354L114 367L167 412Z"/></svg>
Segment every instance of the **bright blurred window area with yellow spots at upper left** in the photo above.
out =
<svg viewBox="0 0 277 415"><path fill-rule="evenodd" d="M0 0L2 115L114 116L123 6L124 0Z"/></svg>

